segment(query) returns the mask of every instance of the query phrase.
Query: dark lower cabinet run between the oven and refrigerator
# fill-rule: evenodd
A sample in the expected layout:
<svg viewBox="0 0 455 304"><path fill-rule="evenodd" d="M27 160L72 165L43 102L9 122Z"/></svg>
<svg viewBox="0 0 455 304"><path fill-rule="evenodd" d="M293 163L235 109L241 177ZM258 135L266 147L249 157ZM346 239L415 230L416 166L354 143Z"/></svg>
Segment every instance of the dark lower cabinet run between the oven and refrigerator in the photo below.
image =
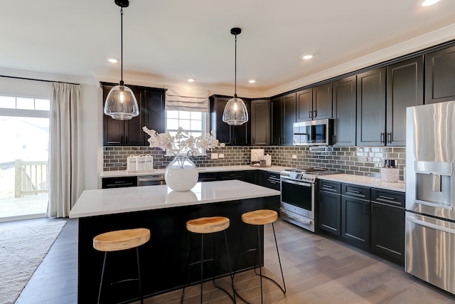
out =
<svg viewBox="0 0 455 304"><path fill-rule="evenodd" d="M319 229L405 265L405 193L319 180Z"/></svg>

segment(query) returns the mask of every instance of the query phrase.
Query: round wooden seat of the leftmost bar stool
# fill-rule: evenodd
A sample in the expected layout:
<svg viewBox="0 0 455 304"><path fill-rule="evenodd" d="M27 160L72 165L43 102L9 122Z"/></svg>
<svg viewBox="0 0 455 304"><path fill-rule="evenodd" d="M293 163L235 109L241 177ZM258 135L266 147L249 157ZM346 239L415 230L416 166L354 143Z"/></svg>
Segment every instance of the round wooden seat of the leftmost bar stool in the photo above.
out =
<svg viewBox="0 0 455 304"><path fill-rule="evenodd" d="M98 251L120 251L141 246L149 239L150 230L145 228L109 231L93 238L93 248Z"/></svg>

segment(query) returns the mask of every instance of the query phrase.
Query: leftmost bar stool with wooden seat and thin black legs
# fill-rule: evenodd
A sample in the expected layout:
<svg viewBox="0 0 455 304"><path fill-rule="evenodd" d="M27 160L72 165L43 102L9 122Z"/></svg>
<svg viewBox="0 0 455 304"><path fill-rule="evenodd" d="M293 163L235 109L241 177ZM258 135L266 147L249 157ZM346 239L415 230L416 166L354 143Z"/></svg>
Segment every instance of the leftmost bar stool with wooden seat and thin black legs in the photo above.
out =
<svg viewBox="0 0 455 304"><path fill-rule="evenodd" d="M131 249L131 248L136 248L138 278L137 279L127 279L127 280L119 281L116 283L138 280L139 281L139 297L141 299L141 303L144 303L144 299L142 298L141 270L140 270L140 266L139 266L139 246L148 242L149 239L150 239L150 230L145 229L145 228L109 231L104 234L98 234L97 236L95 236L95 238L93 238L93 248L95 248L97 251L103 251L105 253L105 259L102 264L100 291L98 292L98 302L97 303L100 303L102 281L103 281L103 277L105 276L107 253L112 252L112 251L123 251L123 250ZM112 283L112 284L116 284L116 283Z"/></svg>

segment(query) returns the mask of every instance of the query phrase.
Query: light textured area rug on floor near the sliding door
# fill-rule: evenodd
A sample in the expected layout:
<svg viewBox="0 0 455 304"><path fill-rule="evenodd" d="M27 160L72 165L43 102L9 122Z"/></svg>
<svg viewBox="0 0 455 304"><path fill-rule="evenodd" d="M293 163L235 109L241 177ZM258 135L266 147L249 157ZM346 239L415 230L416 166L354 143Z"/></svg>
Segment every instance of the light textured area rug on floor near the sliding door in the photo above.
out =
<svg viewBox="0 0 455 304"><path fill-rule="evenodd" d="M30 280L66 221L0 226L0 303L10 304Z"/></svg>

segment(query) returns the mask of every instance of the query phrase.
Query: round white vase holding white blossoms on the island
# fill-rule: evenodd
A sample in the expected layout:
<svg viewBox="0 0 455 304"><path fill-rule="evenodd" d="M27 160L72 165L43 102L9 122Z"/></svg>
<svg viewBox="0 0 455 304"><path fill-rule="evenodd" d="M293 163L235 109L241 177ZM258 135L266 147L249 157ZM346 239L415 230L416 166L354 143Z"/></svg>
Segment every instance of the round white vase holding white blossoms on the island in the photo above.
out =
<svg viewBox="0 0 455 304"><path fill-rule="evenodd" d="M198 182L199 172L196 164L186 157L174 157L166 167L164 180L173 191L188 191Z"/></svg>

